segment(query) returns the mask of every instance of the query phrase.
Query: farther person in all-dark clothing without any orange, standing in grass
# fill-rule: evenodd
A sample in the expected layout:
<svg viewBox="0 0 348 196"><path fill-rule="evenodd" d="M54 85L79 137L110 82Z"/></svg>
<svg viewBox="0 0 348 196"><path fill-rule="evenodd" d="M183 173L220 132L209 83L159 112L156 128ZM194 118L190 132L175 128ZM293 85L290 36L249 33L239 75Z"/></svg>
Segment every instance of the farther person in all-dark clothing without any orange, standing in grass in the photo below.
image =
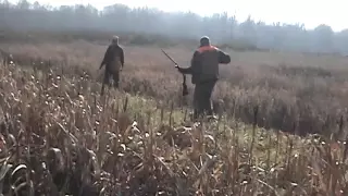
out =
<svg viewBox="0 0 348 196"><path fill-rule="evenodd" d="M114 87L119 88L120 72L124 66L124 51L119 45L117 36L113 37L111 45L108 47L99 70L103 65L105 65L103 84L108 84L110 86L110 77L113 77ZM103 94L103 91L104 85L102 86L101 94Z"/></svg>

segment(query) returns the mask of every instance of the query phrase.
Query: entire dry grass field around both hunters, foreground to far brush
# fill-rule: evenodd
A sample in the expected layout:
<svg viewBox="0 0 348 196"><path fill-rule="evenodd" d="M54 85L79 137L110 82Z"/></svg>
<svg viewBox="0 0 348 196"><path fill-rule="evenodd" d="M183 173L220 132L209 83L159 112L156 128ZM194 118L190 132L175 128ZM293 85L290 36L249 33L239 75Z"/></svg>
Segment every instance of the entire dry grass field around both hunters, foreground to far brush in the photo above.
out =
<svg viewBox="0 0 348 196"><path fill-rule="evenodd" d="M122 89L104 97L105 45L0 47L16 63L0 69L4 195L348 193L347 58L226 49L220 120L194 124L182 76L158 47L124 46ZM194 48L165 50L188 66Z"/></svg>

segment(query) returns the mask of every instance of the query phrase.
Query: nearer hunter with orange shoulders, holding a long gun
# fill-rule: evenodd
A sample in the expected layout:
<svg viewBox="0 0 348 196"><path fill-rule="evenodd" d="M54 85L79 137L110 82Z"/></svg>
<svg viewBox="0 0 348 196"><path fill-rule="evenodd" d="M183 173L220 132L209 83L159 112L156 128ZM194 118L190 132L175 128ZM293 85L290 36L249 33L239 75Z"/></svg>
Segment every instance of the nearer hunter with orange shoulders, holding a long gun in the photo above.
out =
<svg viewBox="0 0 348 196"><path fill-rule="evenodd" d="M189 68L177 68L183 74L190 74L195 85L194 119L202 114L213 115L211 95L219 79L219 64L228 64L231 57L212 46L207 36L200 39L200 47L195 51Z"/></svg>

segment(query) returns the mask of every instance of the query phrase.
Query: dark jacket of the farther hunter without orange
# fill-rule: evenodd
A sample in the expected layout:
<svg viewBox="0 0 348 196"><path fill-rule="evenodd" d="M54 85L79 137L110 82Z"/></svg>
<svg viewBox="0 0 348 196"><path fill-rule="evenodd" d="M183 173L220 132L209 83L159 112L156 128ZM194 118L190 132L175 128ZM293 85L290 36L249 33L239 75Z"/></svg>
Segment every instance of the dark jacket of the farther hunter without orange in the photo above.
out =
<svg viewBox="0 0 348 196"><path fill-rule="evenodd" d="M124 66L124 51L120 45L110 45L105 51L100 69L105 64L109 72L120 71Z"/></svg>

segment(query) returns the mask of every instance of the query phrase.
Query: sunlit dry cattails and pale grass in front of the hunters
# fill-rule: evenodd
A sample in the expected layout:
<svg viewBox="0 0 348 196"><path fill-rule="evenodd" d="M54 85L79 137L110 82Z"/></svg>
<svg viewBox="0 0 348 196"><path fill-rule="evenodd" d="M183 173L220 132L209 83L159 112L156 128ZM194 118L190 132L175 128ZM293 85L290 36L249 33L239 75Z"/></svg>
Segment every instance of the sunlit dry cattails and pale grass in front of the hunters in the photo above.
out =
<svg viewBox="0 0 348 196"><path fill-rule="evenodd" d="M224 118L191 124L185 110L170 110L159 99L115 90L100 97L100 84L84 73L1 64L4 195L348 192L346 143Z"/></svg>

